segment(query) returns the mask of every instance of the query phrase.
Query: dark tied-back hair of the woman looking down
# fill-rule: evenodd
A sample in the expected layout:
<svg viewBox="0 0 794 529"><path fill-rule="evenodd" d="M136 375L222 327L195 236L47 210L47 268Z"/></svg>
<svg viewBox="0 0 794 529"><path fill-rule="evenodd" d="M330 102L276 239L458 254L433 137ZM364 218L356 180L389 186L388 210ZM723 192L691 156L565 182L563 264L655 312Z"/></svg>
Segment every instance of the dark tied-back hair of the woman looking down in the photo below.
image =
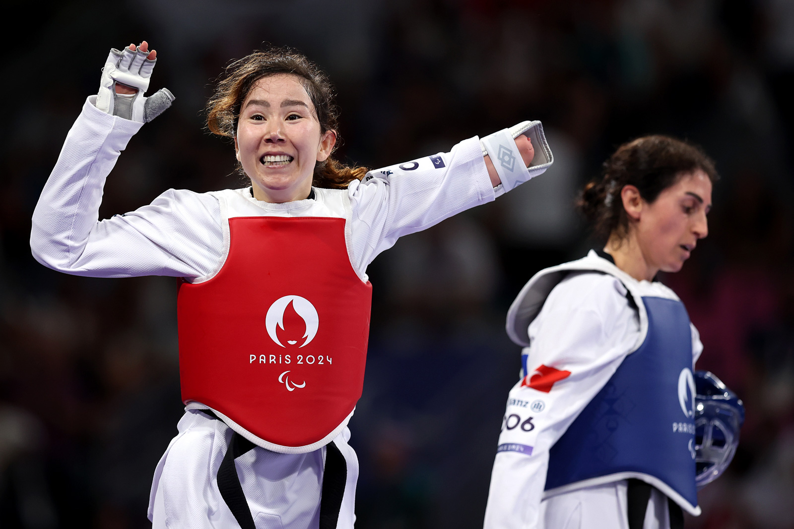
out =
<svg viewBox="0 0 794 529"><path fill-rule="evenodd" d="M711 182L719 179L714 161L700 147L670 136L642 136L622 144L603 163L601 176L584 186L576 207L596 238L605 242L614 234L622 240L629 229L620 196L624 186L635 186L642 200L652 203L684 174L699 169Z"/></svg>

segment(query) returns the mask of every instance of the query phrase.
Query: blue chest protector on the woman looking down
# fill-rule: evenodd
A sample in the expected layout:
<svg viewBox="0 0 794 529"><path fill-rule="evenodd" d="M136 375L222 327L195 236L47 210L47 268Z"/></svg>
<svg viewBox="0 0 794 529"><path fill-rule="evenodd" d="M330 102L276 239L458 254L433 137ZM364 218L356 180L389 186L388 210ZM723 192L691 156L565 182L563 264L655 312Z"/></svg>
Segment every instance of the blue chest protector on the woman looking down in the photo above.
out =
<svg viewBox="0 0 794 529"><path fill-rule="evenodd" d="M639 477L692 511L697 489L689 316L680 301L640 299L648 315L646 339L554 444L545 489Z"/></svg>

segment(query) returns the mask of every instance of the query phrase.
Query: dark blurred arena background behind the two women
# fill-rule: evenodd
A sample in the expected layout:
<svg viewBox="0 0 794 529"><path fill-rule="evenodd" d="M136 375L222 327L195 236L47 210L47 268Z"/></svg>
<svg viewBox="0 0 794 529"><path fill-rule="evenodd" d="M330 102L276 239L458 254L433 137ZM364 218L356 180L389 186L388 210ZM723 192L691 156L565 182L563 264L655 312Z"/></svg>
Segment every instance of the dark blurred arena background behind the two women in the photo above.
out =
<svg viewBox="0 0 794 529"><path fill-rule="evenodd" d="M152 90L177 99L129 143L101 217L169 187L244 186L202 107L230 59L263 42L336 83L338 155L382 167L524 119L556 162L368 270L374 286L357 527L482 527L519 348L507 306L542 267L592 247L576 190L626 140L661 132L716 160L711 235L664 281L712 370L744 400L730 470L692 528L794 527L794 2L790 0L138 0L18 2L0 65L0 525L150 527L176 433L174 278L58 274L30 217L110 47L148 40Z"/></svg>

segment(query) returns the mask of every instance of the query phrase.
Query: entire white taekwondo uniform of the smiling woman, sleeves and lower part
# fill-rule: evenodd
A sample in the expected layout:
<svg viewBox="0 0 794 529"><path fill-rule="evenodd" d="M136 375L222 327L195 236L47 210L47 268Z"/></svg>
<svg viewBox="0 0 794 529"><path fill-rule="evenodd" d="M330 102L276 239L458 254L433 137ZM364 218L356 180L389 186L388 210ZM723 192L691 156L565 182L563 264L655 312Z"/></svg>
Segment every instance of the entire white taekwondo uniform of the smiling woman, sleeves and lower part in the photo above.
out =
<svg viewBox="0 0 794 529"><path fill-rule="evenodd" d="M225 260L229 217L340 217L347 220L351 264L366 281L372 259L400 236L503 193L491 186L475 137L449 153L370 171L348 190L315 189L313 200L268 204L251 197L250 189L167 190L149 205L98 221L107 175L141 125L103 113L93 98L83 105L33 213L30 244L40 263L91 277L165 275L200 282ZM148 514L154 527L237 527L216 482L230 435L221 421L187 410L152 482ZM348 476L337 527L352 529L358 463L347 439L345 427L333 440ZM256 447L237 458L256 527L317 527L324 457L325 447L307 454Z"/></svg>

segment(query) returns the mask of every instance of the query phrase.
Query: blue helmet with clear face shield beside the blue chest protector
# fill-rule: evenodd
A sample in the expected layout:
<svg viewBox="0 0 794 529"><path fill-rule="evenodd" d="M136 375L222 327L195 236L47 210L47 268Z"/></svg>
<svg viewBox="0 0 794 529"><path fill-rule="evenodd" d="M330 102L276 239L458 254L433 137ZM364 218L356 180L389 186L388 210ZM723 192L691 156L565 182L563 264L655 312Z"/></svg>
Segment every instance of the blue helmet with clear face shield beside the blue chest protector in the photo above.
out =
<svg viewBox="0 0 794 529"><path fill-rule="evenodd" d="M695 372L695 452L698 489L722 474L734 458L744 404L709 371Z"/></svg>

